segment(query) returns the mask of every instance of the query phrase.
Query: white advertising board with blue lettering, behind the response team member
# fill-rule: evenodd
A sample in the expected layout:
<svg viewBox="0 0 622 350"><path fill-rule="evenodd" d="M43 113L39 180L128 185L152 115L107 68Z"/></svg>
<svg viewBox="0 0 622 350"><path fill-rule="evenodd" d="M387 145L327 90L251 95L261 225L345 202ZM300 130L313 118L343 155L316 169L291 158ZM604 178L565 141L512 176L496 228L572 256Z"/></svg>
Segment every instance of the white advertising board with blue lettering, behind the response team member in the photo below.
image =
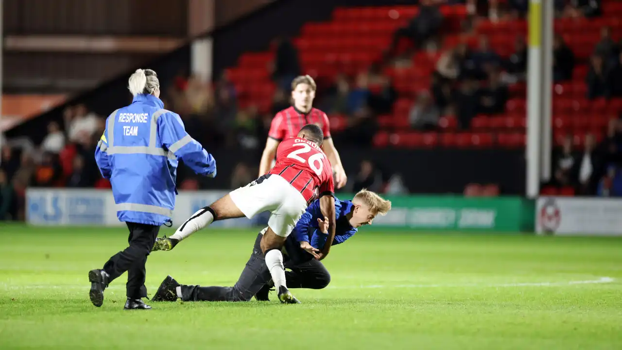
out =
<svg viewBox="0 0 622 350"><path fill-rule="evenodd" d="M180 192L173 211L173 227L226 193L228 191ZM100 189L27 189L26 222L31 225L125 225L117 218L112 191ZM253 227L266 222L265 215L258 215L253 220L216 221L213 226Z"/></svg>

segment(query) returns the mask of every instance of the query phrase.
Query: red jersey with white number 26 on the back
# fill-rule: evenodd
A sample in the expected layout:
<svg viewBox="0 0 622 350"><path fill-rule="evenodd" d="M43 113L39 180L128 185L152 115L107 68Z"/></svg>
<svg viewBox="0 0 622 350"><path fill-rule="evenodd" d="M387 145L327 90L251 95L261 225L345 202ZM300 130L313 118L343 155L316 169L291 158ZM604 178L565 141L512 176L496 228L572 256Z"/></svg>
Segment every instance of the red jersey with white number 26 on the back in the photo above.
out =
<svg viewBox="0 0 622 350"><path fill-rule="evenodd" d="M313 141L288 138L279 144L276 165L269 171L289 181L307 203L335 192L333 168L326 154Z"/></svg>

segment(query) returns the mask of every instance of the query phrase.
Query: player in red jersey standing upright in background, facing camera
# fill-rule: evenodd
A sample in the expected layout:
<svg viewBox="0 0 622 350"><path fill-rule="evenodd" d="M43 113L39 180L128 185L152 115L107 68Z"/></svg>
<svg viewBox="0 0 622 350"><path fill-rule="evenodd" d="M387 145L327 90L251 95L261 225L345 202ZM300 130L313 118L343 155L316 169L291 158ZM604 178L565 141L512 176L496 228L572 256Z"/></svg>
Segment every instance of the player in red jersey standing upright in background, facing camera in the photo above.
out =
<svg viewBox="0 0 622 350"><path fill-rule="evenodd" d="M276 113L270 125L270 131L266 140L266 148L261 155L259 163L259 176L266 174L274 166L274 156L281 141L296 136L302 126L315 124L322 128L324 133L323 151L328 157L333 171L335 172L335 185L337 188L345 186L348 181L341 158L333 139L330 137L330 122L323 111L313 108L315 98L315 81L309 75L300 75L292 81L292 99L294 105Z"/></svg>

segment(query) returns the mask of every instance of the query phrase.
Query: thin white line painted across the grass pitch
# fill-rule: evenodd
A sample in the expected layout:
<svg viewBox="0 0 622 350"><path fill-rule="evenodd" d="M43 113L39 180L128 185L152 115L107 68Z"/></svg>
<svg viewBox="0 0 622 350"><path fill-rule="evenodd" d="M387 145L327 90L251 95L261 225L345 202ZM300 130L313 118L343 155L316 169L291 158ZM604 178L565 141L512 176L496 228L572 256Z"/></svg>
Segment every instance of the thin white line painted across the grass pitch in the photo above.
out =
<svg viewBox="0 0 622 350"><path fill-rule="evenodd" d="M361 286L328 286L330 289L359 289L359 288L439 288L439 287L480 287L480 288L504 288L504 287L522 287L522 286L569 286L569 285L595 285L601 283L611 283L615 281L615 278L600 277L598 280L582 280L582 281L559 281L559 282L526 282L526 283L499 283L499 284L486 284L486 283L462 283L462 284L450 284L450 285L361 285ZM84 285L11 285L9 283L0 283L0 288L5 290L21 290L21 289L85 289L88 290L90 285L85 283ZM122 291L125 290L124 285L109 286L106 290Z"/></svg>

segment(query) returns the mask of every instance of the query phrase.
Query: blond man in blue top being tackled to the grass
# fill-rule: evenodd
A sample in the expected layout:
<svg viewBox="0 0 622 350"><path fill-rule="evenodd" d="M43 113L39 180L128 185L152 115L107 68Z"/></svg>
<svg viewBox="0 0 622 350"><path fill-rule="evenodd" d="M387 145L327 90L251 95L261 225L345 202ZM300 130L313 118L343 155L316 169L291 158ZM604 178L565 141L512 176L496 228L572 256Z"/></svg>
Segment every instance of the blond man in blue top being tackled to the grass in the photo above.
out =
<svg viewBox="0 0 622 350"><path fill-rule="evenodd" d="M362 190L351 201L335 201L337 229L333 245L352 237L363 225L371 225L376 215L391 210L391 202L374 192ZM314 201L302 214L292 234L285 241L285 272L290 288L322 289L330 283L330 273L323 263L314 258L328 238L328 220L322 214L320 201ZM253 253L234 286L180 285L167 276L160 284L152 301L267 301L270 288L270 272L261 253L261 238L266 229L259 232Z"/></svg>

